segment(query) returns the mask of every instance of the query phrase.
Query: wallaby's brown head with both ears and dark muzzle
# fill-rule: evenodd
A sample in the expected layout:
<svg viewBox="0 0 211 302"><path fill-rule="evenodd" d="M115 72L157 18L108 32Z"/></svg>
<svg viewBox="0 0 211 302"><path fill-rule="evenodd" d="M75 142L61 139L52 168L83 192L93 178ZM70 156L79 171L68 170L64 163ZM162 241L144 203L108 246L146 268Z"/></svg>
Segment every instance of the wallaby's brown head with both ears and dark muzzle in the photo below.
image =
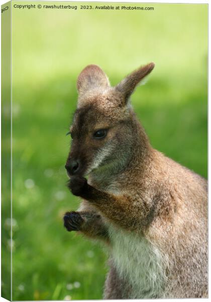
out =
<svg viewBox="0 0 211 302"><path fill-rule="evenodd" d="M116 87L97 65L86 66L77 80L78 103L70 127L71 149L65 168L84 176L96 169L124 166L136 135L130 96L154 68L135 70Z"/></svg>

